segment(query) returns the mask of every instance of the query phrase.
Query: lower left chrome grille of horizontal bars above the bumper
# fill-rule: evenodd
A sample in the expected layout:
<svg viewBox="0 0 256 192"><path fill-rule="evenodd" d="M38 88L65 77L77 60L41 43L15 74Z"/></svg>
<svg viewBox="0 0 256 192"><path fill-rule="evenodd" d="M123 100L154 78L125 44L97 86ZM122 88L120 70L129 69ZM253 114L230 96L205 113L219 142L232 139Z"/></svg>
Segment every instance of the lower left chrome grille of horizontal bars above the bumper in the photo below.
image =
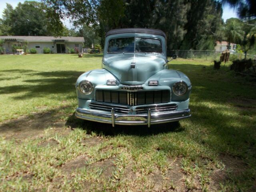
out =
<svg viewBox="0 0 256 192"><path fill-rule="evenodd" d="M121 114L128 114L129 109L126 106L118 106L118 105L108 105L108 104L102 104L102 103L90 103L89 107L94 110L101 110L101 111L107 111L111 112L111 109L115 109L115 113L121 113Z"/></svg>

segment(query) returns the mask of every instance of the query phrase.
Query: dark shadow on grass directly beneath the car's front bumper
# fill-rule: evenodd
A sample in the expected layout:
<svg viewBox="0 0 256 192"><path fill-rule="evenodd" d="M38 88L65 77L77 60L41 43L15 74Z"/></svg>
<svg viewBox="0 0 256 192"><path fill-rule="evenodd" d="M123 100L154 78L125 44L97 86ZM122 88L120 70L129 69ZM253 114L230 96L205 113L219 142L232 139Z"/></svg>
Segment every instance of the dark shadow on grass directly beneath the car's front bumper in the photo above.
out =
<svg viewBox="0 0 256 192"><path fill-rule="evenodd" d="M183 129L180 127L179 122L171 122L165 124L152 125L150 128L148 126L128 126L128 125L116 125L112 127L112 124L99 123L93 121L87 121L76 118L73 114L66 121L66 126L74 128L82 128L86 130L88 134L92 132L98 135L104 136L116 136L116 135L138 135L138 136L147 136L147 135L156 135L167 132L180 132Z"/></svg>

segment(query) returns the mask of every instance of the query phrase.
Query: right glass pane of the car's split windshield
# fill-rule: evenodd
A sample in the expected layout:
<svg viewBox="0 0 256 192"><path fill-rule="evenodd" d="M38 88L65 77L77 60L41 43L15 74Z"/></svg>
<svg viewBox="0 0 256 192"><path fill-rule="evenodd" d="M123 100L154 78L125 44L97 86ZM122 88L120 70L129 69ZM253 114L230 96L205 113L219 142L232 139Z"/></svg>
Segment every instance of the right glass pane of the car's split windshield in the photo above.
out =
<svg viewBox="0 0 256 192"><path fill-rule="evenodd" d="M135 38L135 52L162 53L162 42L158 39Z"/></svg>

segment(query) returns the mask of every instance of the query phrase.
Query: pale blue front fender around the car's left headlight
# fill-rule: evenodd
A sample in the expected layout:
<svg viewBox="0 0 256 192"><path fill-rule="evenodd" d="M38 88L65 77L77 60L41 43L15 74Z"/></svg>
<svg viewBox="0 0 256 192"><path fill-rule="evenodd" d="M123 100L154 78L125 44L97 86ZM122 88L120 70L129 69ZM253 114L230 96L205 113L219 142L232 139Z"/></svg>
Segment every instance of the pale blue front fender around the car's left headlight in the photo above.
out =
<svg viewBox="0 0 256 192"><path fill-rule="evenodd" d="M88 80L92 83L94 90L92 91L91 94L85 95L79 91L78 85L83 80ZM96 69L96 70L91 70L91 71L83 73L76 80L76 93L77 93L78 98L94 99L95 87L98 85L106 85L107 80L117 80L117 79L114 75L112 75L106 69Z"/></svg>

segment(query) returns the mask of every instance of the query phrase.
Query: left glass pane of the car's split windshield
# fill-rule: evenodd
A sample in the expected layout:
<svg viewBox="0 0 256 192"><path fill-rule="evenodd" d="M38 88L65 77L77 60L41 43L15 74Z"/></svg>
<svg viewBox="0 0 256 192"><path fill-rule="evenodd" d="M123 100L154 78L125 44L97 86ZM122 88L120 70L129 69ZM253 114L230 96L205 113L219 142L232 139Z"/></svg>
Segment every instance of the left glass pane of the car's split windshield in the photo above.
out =
<svg viewBox="0 0 256 192"><path fill-rule="evenodd" d="M134 52L134 37L110 39L108 53Z"/></svg>

